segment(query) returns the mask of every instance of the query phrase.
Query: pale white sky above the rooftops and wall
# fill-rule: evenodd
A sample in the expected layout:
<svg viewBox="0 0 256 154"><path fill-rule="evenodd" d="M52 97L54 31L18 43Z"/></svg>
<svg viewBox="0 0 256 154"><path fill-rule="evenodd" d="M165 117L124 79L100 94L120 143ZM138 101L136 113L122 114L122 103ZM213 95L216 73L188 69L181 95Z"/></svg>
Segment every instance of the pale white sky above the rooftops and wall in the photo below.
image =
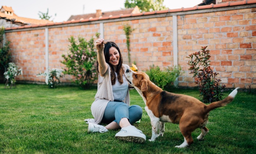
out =
<svg viewBox="0 0 256 154"><path fill-rule="evenodd" d="M52 16L55 22L67 21L71 15L115 11L124 8L125 0L0 0L0 6L12 7L19 17L40 19L39 11ZM164 0L169 9L194 7L202 0ZM56 14L56 16L55 16Z"/></svg>

